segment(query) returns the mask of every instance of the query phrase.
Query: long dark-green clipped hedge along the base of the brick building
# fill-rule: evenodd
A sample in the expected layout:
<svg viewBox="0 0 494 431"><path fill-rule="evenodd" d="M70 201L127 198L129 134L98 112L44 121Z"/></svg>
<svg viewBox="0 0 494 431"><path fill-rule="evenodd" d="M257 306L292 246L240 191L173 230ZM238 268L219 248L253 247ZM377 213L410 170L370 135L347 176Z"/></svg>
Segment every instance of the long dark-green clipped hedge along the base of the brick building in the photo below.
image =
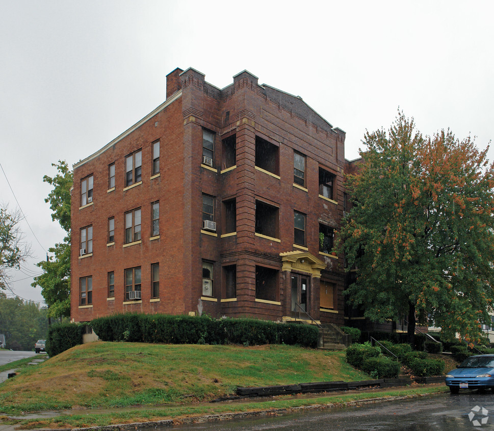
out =
<svg viewBox="0 0 494 431"><path fill-rule="evenodd" d="M91 326L103 341L163 344L290 344L316 347L319 330L296 323L255 319L212 319L209 316L116 314L94 319Z"/></svg>

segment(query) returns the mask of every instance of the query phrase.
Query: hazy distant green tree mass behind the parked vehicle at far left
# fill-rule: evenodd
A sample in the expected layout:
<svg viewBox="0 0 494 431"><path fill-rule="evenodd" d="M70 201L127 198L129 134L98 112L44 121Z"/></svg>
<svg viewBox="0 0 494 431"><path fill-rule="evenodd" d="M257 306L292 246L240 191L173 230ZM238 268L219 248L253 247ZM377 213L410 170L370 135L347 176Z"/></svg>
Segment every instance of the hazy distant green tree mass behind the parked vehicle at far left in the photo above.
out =
<svg viewBox="0 0 494 431"><path fill-rule="evenodd" d="M46 309L0 292L0 333L5 334L8 348L33 350L36 340L46 339L48 333Z"/></svg>

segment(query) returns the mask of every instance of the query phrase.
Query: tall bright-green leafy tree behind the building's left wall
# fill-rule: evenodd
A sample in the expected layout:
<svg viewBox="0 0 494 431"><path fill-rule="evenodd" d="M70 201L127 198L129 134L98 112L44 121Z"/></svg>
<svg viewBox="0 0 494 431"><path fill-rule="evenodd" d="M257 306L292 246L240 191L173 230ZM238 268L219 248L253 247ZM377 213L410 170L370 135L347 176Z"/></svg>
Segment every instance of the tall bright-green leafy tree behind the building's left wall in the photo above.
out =
<svg viewBox="0 0 494 431"><path fill-rule="evenodd" d="M43 177L44 182L53 186L45 202L53 211L51 218L60 223L67 235L62 243L48 250L53 256L37 264L43 274L35 277L32 286L41 286L41 295L48 305L48 317L62 318L70 316L70 188L73 176L66 161L59 160L52 166L57 168L58 174Z"/></svg>

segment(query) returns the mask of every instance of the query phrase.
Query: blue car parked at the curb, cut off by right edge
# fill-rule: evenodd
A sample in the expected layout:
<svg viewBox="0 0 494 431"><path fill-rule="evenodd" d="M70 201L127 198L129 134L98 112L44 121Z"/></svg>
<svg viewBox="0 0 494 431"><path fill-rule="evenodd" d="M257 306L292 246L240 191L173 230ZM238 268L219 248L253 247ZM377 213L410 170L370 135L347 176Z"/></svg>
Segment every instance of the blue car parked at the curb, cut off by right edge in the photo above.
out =
<svg viewBox="0 0 494 431"><path fill-rule="evenodd" d="M466 358L445 377L452 394L460 389L491 389L494 392L494 354Z"/></svg>

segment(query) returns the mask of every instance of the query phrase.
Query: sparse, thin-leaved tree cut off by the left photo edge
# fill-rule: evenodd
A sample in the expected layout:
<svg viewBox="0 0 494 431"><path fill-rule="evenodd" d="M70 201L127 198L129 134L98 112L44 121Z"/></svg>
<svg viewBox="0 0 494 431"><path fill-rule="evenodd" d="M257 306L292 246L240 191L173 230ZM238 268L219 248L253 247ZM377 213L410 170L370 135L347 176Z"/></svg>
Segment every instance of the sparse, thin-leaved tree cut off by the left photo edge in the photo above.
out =
<svg viewBox="0 0 494 431"><path fill-rule="evenodd" d="M19 229L20 212L11 212L0 205L0 289L5 289L9 269L19 269L30 255L29 246L23 241Z"/></svg>

